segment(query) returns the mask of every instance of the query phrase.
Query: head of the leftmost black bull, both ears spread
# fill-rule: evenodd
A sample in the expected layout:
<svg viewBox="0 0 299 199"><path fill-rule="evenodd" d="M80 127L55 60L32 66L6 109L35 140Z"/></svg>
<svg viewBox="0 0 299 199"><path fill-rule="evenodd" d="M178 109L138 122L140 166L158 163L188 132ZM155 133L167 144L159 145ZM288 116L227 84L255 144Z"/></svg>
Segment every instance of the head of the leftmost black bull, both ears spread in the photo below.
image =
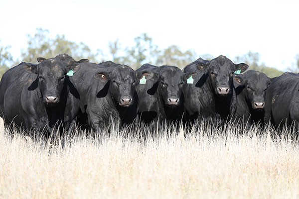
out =
<svg viewBox="0 0 299 199"><path fill-rule="evenodd" d="M64 87L65 74L69 70L74 72L79 69L77 65L66 66L57 59L43 59L38 65L26 64L23 66L28 73L38 75L38 88L47 105L55 105L60 101L60 95Z"/></svg>

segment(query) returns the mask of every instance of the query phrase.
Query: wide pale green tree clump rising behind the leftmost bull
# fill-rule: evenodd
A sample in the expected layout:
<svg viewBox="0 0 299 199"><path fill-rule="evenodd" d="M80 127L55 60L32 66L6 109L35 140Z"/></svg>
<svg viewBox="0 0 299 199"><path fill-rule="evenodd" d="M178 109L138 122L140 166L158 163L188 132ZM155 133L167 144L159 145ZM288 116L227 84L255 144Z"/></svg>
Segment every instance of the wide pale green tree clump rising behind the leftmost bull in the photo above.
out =
<svg viewBox="0 0 299 199"><path fill-rule="evenodd" d="M75 60L86 58L96 62L97 54L92 53L90 48L83 42L77 44L67 40L64 35L49 38L49 31L42 28L36 28L36 31L33 36L27 35L28 47L21 53L23 61L35 63L37 57L51 58L66 53Z"/></svg>

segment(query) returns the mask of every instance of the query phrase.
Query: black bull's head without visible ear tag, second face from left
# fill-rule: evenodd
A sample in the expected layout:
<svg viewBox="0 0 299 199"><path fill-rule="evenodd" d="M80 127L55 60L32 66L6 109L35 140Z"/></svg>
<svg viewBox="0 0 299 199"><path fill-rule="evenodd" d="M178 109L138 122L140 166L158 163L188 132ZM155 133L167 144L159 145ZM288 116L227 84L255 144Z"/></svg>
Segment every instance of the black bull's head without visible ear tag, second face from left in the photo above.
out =
<svg viewBox="0 0 299 199"><path fill-rule="evenodd" d="M136 75L129 66L118 65L110 72L97 73L95 78L104 82L110 81L110 93L120 106L129 107L134 103Z"/></svg>

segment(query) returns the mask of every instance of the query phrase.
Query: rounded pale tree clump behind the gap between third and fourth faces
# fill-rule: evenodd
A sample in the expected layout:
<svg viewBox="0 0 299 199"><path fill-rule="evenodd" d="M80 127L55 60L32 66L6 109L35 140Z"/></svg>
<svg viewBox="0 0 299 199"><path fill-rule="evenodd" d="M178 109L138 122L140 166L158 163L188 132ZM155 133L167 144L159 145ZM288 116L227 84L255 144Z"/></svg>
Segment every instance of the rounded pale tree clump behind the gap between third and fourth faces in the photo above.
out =
<svg viewBox="0 0 299 199"><path fill-rule="evenodd" d="M187 64L195 60L195 52L187 50L182 52L176 45L169 46L162 50L162 54L156 60L157 65L172 65L183 68Z"/></svg>

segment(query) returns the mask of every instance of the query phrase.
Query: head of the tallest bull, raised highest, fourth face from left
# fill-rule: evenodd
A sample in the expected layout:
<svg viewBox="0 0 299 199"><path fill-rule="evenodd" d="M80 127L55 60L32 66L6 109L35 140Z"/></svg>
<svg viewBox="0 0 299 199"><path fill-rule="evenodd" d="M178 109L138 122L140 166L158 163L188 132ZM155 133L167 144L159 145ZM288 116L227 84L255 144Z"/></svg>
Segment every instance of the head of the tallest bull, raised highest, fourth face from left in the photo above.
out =
<svg viewBox="0 0 299 199"><path fill-rule="evenodd" d="M234 64L225 56L212 59L204 63L198 63L197 68L209 74L212 90L217 96L230 95L233 88L233 75L235 71L243 73L248 68L247 64Z"/></svg>

